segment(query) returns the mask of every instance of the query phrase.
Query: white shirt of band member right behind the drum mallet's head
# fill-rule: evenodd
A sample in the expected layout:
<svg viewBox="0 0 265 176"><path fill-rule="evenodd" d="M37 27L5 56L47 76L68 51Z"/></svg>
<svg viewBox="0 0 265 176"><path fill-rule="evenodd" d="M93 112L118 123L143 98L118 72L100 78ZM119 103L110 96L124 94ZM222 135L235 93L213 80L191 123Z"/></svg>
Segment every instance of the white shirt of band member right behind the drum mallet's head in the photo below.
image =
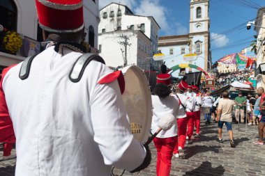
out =
<svg viewBox="0 0 265 176"><path fill-rule="evenodd" d="M158 121L165 114L172 114L174 117L179 113L179 99L176 96L167 96L165 98L159 98L157 95L152 95L153 104L153 118L151 125L152 134L156 133L158 130ZM160 131L158 138L169 138L177 135L178 126L176 125L176 120L174 125L167 131Z"/></svg>

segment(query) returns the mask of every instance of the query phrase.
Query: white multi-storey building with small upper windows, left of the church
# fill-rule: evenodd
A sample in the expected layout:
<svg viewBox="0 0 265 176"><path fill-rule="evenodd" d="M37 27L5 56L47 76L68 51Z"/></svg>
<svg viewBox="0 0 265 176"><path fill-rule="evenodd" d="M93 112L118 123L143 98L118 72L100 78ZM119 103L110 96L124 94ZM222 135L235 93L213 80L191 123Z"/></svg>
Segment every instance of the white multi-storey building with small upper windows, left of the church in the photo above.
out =
<svg viewBox="0 0 265 176"><path fill-rule="evenodd" d="M110 3L100 10L100 56L112 67L135 64L144 70L158 69L162 61L152 57L158 49L159 29L153 17L134 15L127 6Z"/></svg>

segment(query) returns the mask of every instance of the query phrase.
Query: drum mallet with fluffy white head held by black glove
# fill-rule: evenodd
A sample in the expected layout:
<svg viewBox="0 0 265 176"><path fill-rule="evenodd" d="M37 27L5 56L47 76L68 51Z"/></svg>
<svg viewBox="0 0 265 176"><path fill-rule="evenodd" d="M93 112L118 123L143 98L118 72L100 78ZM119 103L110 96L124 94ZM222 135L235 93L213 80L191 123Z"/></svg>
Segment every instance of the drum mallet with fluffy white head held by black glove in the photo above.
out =
<svg viewBox="0 0 265 176"><path fill-rule="evenodd" d="M146 141L146 143L144 143L144 145L149 145L149 143L151 143L153 141L153 138L155 138L160 131L164 130L167 131L168 129L170 129L173 125L174 122L176 121L176 118L174 117L174 115L172 114L165 114L162 118L160 118L160 120L158 121L158 130L156 130L156 133L154 133L151 137L148 138L148 140Z"/></svg>

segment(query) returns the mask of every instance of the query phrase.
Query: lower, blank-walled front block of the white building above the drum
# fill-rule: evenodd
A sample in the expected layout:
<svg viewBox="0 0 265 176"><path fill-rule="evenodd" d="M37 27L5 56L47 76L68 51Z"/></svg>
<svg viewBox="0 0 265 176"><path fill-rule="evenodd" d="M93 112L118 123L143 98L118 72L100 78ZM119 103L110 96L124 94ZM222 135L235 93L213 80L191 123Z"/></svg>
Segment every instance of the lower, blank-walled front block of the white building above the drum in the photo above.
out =
<svg viewBox="0 0 265 176"><path fill-rule="evenodd" d="M127 51L121 42L125 42L124 36L128 37ZM142 31L115 31L109 33L101 33L98 36L99 55L109 67L123 66L125 57L127 65L138 65L143 67L150 63L149 50L146 46L151 45L151 40L142 33ZM127 56L125 56L127 52ZM149 69L149 68L146 68Z"/></svg>

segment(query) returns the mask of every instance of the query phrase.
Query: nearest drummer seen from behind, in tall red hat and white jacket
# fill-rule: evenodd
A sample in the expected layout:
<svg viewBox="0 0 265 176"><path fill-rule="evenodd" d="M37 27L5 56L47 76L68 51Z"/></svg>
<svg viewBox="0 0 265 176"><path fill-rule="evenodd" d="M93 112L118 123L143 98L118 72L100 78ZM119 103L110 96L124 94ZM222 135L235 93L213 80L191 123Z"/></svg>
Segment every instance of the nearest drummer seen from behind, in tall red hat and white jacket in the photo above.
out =
<svg viewBox="0 0 265 176"><path fill-rule="evenodd" d="M82 5L36 0L47 49L4 71L0 86L15 130L15 175L107 176L112 166L133 173L151 161L149 148L131 134L122 73L99 56L90 63L79 58L87 56L79 45Z"/></svg>

